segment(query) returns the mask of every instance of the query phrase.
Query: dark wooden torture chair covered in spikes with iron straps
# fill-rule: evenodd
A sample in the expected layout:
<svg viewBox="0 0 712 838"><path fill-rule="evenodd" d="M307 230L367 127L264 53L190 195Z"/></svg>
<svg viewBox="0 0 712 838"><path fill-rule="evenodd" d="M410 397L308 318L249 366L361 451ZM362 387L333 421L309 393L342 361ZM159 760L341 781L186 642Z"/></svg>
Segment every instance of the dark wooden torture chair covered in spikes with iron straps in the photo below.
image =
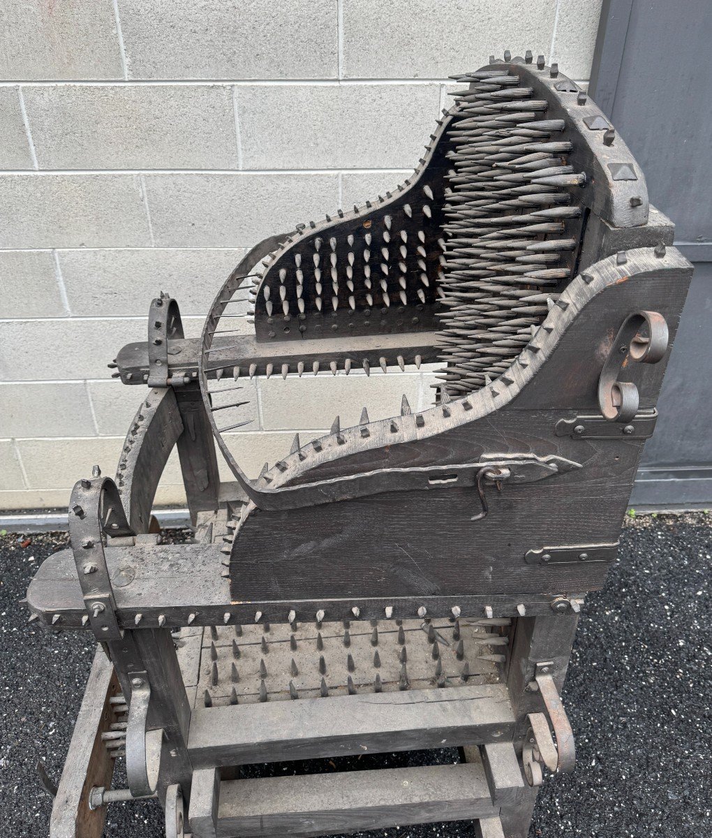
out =
<svg viewBox="0 0 712 838"><path fill-rule="evenodd" d="M200 339L162 294L111 365L148 387L116 478L75 485L71 549L28 591L31 619L101 644L55 838L147 796L168 838L461 819L524 838L545 774L574 768L576 620L617 555L691 266L556 65L507 53L457 81L403 184L255 246ZM368 392L420 365L439 370L430 406L367 405L258 478L240 468L254 376L304 400L302 375ZM187 543L151 515L174 446ZM460 763L408 763L441 747ZM124 756L128 789L109 790ZM284 761L300 773L264 769Z"/></svg>

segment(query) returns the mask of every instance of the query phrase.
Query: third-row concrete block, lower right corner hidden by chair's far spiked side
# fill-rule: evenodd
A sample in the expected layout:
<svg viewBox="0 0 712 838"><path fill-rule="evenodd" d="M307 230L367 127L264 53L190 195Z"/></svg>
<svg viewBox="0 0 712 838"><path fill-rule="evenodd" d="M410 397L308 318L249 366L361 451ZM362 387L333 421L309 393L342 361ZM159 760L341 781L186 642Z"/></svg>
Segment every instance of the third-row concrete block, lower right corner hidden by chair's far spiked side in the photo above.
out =
<svg viewBox="0 0 712 838"><path fill-rule="evenodd" d="M147 174L159 247L251 247L335 212L338 174Z"/></svg>

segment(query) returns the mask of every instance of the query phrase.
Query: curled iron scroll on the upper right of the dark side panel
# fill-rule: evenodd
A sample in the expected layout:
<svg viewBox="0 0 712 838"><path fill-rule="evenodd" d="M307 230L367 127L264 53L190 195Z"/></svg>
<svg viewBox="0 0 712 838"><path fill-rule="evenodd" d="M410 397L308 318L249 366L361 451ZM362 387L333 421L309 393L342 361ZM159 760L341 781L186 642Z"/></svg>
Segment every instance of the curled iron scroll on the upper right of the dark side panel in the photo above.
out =
<svg viewBox="0 0 712 838"><path fill-rule="evenodd" d="M626 318L598 380L598 405L609 422L630 422L637 413L638 391L618 375L629 361L657 364L668 349L668 323L658 312L641 311Z"/></svg>

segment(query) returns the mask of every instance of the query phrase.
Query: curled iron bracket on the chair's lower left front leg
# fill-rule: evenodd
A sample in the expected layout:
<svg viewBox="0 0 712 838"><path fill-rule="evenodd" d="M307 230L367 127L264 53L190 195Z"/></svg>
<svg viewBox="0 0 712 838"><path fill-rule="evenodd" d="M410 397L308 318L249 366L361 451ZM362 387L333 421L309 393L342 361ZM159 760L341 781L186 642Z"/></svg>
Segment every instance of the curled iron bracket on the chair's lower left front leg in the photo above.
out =
<svg viewBox="0 0 712 838"><path fill-rule="evenodd" d="M126 727L126 778L134 797L156 791L161 766L163 728L147 731L151 685L146 672L130 672L132 696Z"/></svg>

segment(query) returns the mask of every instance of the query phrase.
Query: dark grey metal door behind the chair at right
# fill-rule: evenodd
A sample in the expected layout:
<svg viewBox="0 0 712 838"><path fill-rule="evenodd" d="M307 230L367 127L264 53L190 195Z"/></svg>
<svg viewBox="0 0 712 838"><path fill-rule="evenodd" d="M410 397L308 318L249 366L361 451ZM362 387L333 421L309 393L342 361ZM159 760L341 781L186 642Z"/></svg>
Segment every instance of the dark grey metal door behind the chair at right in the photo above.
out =
<svg viewBox="0 0 712 838"><path fill-rule="evenodd" d="M631 503L712 503L712 3L604 0L591 97L611 117L695 263Z"/></svg>

